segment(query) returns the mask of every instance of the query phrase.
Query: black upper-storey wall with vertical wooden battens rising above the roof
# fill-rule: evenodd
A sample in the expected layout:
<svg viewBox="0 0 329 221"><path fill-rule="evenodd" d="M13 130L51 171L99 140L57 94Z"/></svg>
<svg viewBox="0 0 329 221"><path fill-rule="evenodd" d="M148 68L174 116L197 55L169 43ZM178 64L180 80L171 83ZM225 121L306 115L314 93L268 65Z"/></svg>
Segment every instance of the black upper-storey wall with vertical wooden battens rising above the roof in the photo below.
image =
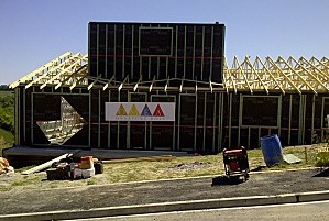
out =
<svg viewBox="0 0 329 221"><path fill-rule="evenodd" d="M223 24L89 23L89 75L221 82Z"/></svg>

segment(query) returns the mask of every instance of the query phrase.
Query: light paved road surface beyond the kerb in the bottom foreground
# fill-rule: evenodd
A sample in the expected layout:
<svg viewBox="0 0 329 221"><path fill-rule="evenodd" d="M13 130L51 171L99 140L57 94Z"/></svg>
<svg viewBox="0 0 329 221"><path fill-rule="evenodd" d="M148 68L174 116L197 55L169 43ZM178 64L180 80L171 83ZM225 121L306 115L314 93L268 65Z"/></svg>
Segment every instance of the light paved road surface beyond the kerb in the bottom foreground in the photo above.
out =
<svg viewBox="0 0 329 221"><path fill-rule="evenodd" d="M329 218L329 200L293 205L259 206L244 208L228 208L216 210L165 212L157 214L140 214L99 219L84 219L84 221L323 221ZM81 220L80 220L81 221Z"/></svg>

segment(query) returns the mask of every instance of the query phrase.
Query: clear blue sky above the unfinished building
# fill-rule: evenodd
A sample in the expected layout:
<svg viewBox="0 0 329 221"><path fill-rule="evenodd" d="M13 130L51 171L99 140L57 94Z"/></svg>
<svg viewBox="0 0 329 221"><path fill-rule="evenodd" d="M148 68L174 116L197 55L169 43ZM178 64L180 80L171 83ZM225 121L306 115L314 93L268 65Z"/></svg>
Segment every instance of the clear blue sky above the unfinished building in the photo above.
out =
<svg viewBox="0 0 329 221"><path fill-rule="evenodd" d="M328 0L0 0L0 85L88 52L88 22L223 23L226 57L329 55Z"/></svg>

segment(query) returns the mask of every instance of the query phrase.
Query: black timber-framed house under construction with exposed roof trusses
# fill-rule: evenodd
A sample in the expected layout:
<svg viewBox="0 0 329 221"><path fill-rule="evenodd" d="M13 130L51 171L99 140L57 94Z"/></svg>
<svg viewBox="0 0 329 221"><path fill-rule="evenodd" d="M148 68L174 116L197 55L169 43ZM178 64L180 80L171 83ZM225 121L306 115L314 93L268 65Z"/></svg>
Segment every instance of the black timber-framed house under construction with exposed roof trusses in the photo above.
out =
<svg viewBox="0 0 329 221"><path fill-rule="evenodd" d="M223 24L89 23L87 55L65 53L11 84L15 145L218 153L278 134L329 132L329 59L234 57ZM108 121L106 103L171 102L173 121Z"/></svg>

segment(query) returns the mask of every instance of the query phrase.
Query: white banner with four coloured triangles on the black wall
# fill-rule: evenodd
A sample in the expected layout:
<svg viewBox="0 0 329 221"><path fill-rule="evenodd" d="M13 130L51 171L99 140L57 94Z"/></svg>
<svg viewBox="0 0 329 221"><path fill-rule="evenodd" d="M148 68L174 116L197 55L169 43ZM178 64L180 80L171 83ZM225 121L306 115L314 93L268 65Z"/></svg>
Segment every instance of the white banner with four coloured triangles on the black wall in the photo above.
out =
<svg viewBox="0 0 329 221"><path fill-rule="evenodd" d="M175 121L175 102L106 102L107 121Z"/></svg>

